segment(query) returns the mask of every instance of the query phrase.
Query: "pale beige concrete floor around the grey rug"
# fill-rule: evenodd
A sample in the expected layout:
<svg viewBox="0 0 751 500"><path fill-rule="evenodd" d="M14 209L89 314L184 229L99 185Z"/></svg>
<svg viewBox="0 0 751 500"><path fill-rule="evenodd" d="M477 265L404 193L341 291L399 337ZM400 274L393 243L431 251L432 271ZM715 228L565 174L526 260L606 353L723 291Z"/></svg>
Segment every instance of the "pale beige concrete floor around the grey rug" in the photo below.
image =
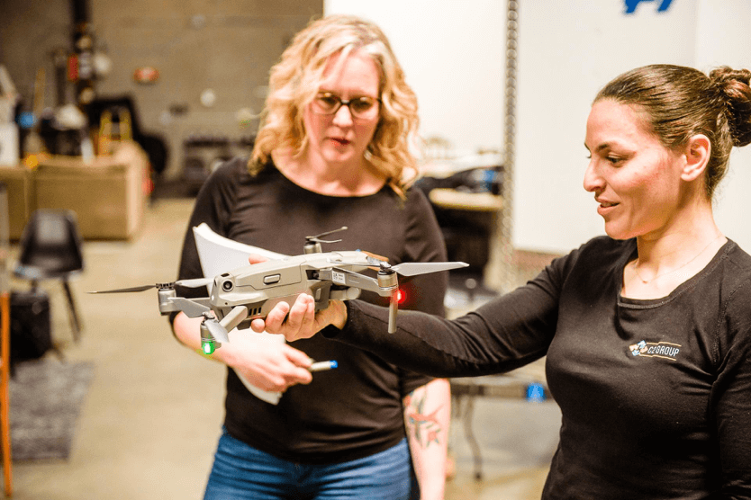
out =
<svg viewBox="0 0 751 500"><path fill-rule="evenodd" d="M94 362L95 376L69 459L14 462L14 498L202 497L222 424L224 367L176 342L158 315L155 290L86 294L173 281L191 207L192 200L159 200L131 242L85 243L86 271L72 283L84 324L80 342L72 341L59 286L43 285L56 343L69 362ZM25 286L12 284L15 290ZM446 498L539 498L556 447L555 403L479 399L472 422L483 479L475 480L463 424L455 420L449 442L457 473Z"/></svg>

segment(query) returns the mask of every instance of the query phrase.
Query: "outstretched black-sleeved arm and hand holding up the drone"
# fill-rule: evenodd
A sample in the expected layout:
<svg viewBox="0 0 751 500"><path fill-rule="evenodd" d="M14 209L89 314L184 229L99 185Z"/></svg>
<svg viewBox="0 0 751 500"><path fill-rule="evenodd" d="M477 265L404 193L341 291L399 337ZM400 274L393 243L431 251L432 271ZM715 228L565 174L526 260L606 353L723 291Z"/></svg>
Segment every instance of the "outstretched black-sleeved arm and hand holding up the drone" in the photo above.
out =
<svg viewBox="0 0 751 500"><path fill-rule="evenodd" d="M486 375L511 371L547 353L556 330L555 291L550 281L538 277L455 320L401 311L393 335L386 333L386 308L351 300L346 307L332 302L315 315L312 298L301 295L291 309L273 310L265 323L255 320L253 328L266 327L294 340L332 325L324 335L413 371L436 377Z"/></svg>

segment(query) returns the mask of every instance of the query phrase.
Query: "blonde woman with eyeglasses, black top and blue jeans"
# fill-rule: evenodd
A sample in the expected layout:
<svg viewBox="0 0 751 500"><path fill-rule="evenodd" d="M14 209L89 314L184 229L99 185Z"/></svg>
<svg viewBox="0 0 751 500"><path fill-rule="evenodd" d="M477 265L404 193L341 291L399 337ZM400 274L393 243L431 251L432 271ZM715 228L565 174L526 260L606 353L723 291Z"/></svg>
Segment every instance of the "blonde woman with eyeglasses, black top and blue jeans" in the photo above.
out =
<svg viewBox="0 0 751 500"><path fill-rule="evenodd" d="M252 156L222 165L199 192L179 278L202 276L190 230L202 222L281 254L302 254L305 237L346 226L323 251L446 260L429 202L408 187L417 125L417 100L382 31L350 16L312 22L271 70ZM405 283L403 308L443 315L447 284L445 273ZM199 350L201 319L173 319L176 337ZM414 476L421 498L443 497L446 379L325 339L230 339L211 356L228 366L227 397L204 498L398 500L417 497ZM312 374L312 360L338 367ZM270 404L251 387L283 395Z"/></svg>

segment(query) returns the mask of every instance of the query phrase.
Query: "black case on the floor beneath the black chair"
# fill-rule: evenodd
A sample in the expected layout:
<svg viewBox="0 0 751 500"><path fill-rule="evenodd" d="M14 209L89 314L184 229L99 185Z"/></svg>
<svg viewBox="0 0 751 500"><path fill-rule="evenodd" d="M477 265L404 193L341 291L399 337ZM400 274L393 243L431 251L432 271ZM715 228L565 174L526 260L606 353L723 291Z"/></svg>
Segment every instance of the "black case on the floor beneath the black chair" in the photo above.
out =
<svg viewBox="0 0 751 500"><path fill-rule="evenodd" d="M41 358L52 347L50 297L37 291L11 293L11 360Z"/></svg>

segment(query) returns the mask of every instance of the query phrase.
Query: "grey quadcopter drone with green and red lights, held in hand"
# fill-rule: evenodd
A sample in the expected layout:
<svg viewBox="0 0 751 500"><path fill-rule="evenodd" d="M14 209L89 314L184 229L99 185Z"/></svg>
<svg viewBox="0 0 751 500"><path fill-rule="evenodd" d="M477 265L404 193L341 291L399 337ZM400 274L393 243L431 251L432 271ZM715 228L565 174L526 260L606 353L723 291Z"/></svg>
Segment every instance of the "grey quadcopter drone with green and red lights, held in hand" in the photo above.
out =
<svg viewBox="0 0 751 500"><path fill-rule="evenodd" d="M417 276L466 267L463 262L399 263L391 265L384 257L362 250L323 252L321 237L347 229L334 229L314 237L305 237L303 254L242 266L213 278L197 278L141 285L137 287L100 290L89 293L122 293L158 290L159 313L184 312L187 317L203 317L201 348L212 354L230 342L234 328L249 328L250 321L266 317L280 302L290 306L301 293L315 300L315 310L329 306L329 300L357 299L361 290L376 292L389 298L388 332L396 332L399 307L398 275ZM376 277L362 272L376 271ZM199 288L210 286L210 296L194 299L177 297L175 286Z"/></svg>

